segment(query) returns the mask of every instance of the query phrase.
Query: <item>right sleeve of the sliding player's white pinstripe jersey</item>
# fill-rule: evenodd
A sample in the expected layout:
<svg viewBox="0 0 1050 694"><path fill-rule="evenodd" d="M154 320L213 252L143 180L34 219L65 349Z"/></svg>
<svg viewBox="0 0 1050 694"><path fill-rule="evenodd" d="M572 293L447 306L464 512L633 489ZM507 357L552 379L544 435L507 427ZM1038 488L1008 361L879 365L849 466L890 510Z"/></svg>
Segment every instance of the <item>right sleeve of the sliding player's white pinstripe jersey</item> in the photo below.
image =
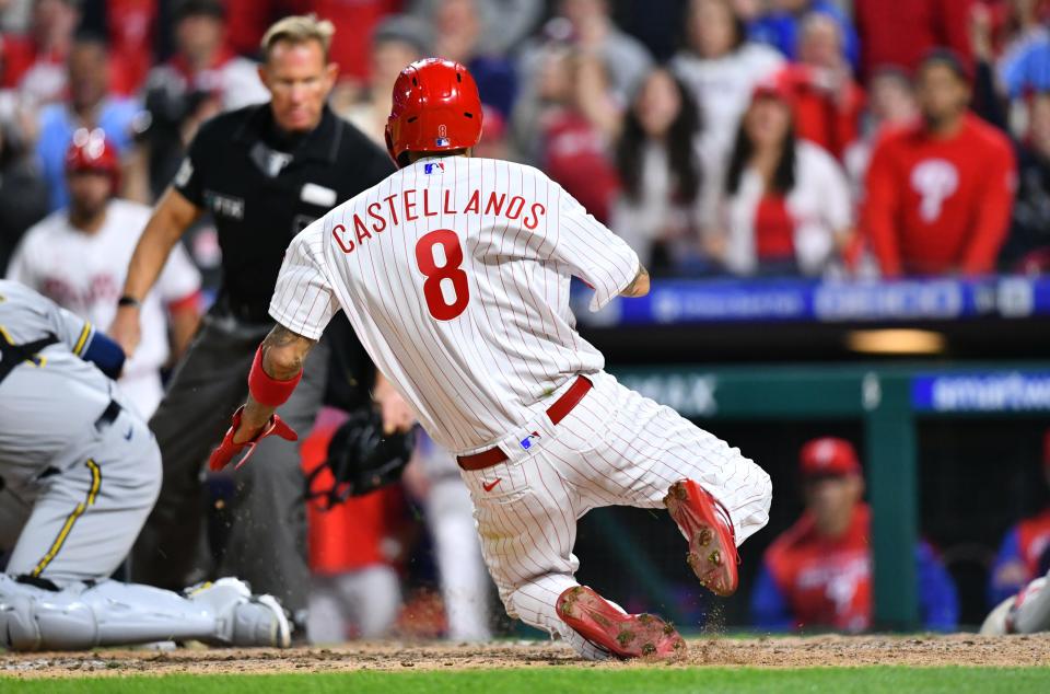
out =
<svg viewBox="0 0 1050 694"><path fill-rule="evenodd" d="M638 254L590 215L561 186L551 184L559 197L557 229L548 229L553 256L567 263L573 275L594 288L591 311L599 311L623 291L641 268Z"/></svg>

